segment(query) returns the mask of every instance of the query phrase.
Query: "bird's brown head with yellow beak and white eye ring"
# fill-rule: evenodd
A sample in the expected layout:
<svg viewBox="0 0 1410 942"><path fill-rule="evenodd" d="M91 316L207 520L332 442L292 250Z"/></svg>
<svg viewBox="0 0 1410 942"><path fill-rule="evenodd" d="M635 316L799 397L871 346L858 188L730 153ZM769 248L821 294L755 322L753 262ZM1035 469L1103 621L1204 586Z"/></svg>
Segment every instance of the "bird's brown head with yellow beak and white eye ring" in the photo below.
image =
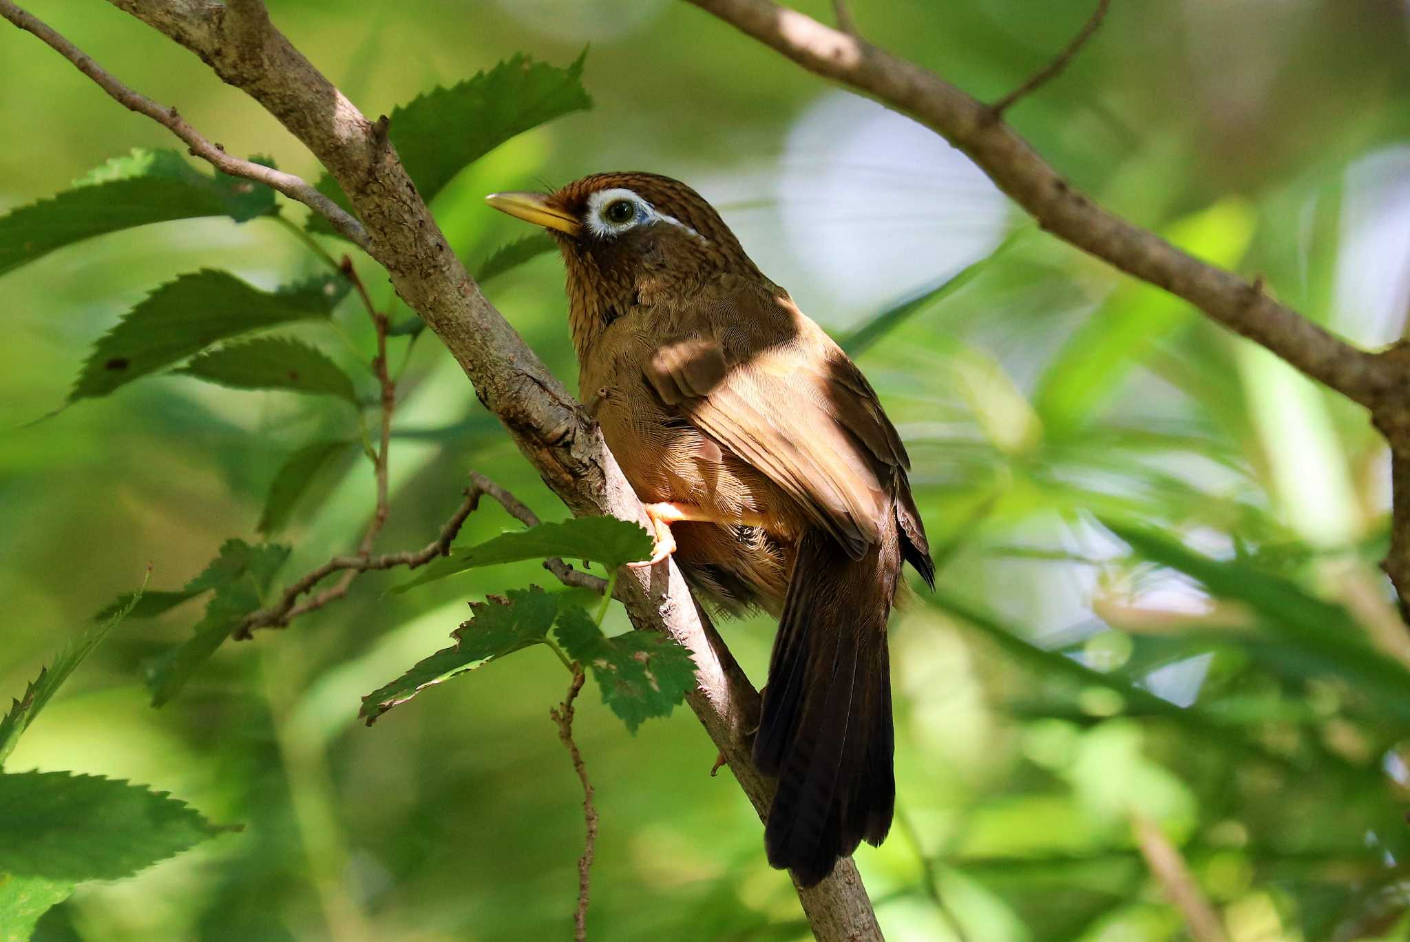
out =
<svg viewBox="0 0 1410 942"><path fill-rule="evenodd" d="M722 272L763 278L715 207L668 176L595 173L553 193L491 193L485 202L558 241L580 353L633 306Z"/></svg>

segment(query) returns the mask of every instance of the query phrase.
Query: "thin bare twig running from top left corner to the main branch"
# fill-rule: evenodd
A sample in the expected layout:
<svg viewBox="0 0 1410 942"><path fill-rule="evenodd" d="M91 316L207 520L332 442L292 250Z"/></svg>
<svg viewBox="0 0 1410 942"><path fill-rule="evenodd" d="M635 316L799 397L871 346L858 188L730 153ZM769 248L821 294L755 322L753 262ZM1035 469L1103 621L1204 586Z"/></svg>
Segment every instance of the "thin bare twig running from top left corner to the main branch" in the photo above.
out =
<svg viewBox="0 0 1410 942"><path fill-rule="evenodd" d="M124 107L131 109L138 114L145 114L162 127L168 128L172 134L186 142L195 157L209 161L223 173L230 176L243 176L244 179L264 183L265 186L279 190L289 199L303 203L313 212L326 217L340 233L347 236L360 248L367 248L367 233L362 230L362 224L352 219L347 210L316 190L302 178L298 178L293 173L276 171L272 166L262 166L259 164L243 161L238 157L226 154L224 148L219 144L212 144L196 128L182 120L182 117L176 113L176 109L162 107L145 94L127 87L104 71L103 66L94 62L92 56L51 30L45 23L28 11L17 7L11 0L0 0L0 17L4 17L24 31L37 35L55 52L72 62L79 72L93 79L99 87L107 92Z"/></svg>

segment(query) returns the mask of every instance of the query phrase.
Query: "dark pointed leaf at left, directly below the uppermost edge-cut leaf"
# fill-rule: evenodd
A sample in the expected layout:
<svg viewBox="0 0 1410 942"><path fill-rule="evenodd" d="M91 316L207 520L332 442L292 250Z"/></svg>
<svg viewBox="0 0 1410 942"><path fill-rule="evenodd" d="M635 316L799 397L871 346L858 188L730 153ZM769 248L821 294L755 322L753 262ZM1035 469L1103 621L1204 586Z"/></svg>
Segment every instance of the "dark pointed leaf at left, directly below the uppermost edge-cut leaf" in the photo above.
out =
<svg viewBox="0 0 1410 942"><path fill-rule="evenodd" d="M97 341L69 402L106 396L217 340L327 317L344 293L345 285L326 278L265 292L221 271L182 275L149 293Z"/></svg>

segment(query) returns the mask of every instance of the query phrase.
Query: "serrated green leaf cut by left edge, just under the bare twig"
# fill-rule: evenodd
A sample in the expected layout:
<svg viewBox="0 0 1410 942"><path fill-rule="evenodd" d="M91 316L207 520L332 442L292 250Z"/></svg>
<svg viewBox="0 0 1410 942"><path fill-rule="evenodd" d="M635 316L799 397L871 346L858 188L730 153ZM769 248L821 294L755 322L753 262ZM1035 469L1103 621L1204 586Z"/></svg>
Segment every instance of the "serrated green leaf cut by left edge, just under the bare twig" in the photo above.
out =
<svg viewBox="0 0 1410 942"><path fill-rule="evenodd" d="M135 149L72 189L0 216L0 275L56 248L134 226L200 216L243 223L274 212L274 190L262 183L209 176L176 151Z"/></svg>

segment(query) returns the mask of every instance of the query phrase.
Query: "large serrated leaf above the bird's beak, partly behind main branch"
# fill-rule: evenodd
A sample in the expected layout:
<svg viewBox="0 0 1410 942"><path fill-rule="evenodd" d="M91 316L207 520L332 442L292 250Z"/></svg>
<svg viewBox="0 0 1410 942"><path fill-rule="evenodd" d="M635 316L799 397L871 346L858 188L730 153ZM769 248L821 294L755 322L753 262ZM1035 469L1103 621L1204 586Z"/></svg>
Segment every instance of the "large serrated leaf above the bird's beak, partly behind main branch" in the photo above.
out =
<svg viewBox="0 0 1410 942"><path fill-rule="evenodd" d="M587 51L560 69L515 55L489 72L396 107L388 137L422 199L430 203L462 168L516 134L592 107L581 82L585 56ZM447 128L454 133L447 134ZM350 207L330 175L324 173L319 189L344 209ZM337 234L319 214L309 217L309 228Z"/></svg>

